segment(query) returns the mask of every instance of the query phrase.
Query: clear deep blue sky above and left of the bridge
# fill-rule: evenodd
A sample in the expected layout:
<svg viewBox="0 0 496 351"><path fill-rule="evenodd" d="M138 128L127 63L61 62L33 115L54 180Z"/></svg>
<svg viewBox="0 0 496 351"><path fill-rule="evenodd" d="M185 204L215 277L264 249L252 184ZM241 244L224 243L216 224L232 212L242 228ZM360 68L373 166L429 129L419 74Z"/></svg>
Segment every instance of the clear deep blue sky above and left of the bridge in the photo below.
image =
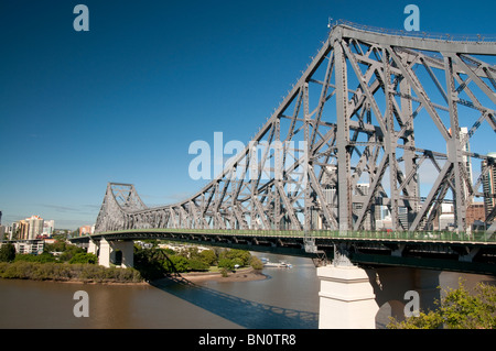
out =
<svg viewBox="0 0 496 351"><path fill-rule="evenodd" d="M89 32L73 29L78 3ZM421 31L496 34L494 0L0 0L2 223L91 224L107 182L134 184L150 206L195 193L190 144L216 131L247 142L330 17L403 29L408 3Z"/></svg>

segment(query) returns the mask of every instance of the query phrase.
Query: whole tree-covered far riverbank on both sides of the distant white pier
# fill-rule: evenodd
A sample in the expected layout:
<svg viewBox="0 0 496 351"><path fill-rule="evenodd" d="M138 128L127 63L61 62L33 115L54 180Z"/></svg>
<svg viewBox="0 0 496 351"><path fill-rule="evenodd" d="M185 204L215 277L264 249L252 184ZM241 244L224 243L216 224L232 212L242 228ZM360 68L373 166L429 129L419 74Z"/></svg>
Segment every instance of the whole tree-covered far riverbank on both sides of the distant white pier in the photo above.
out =
<svg viewBox="0 0 496 351"><path fill-rule="evenodd" d="M58 254L53 254L57 252ZM234 270L261 270L261 261L244 250L186 248L142 249L134 245L134 268L104 267L98 257L66 242L47 244L37 255L15 253L12 244L0 248L0 278L83 283L140 283L186 272L211 272L227 277Z"/></svg>

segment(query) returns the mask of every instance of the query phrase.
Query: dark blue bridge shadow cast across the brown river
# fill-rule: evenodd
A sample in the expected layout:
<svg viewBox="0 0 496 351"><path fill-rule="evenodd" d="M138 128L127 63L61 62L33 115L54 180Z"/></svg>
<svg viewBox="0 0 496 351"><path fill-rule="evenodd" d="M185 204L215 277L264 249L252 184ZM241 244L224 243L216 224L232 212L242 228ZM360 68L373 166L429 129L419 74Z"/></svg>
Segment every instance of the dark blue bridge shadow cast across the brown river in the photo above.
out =
<svg viewBox="0 0 496 351"><path fill-rule="evenodd" d="M316 329L319 314L248 300L195 284L182 276L150 285L247 329Z"/></svg>

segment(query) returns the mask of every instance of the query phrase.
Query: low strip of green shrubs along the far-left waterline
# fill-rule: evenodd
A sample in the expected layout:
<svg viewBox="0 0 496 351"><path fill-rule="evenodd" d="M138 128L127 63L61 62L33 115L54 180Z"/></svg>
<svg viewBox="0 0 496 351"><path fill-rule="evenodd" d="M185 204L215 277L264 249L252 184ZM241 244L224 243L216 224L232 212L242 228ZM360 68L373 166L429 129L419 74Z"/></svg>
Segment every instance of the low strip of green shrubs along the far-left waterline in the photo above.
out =
<svg viewBox="0 0 496 351"><path fill-rule="evenodd" d="M133 268L104 267L96 264L55 262L0 262L0 277L9 279L58 281L82 283L140 283Z"/></svg>

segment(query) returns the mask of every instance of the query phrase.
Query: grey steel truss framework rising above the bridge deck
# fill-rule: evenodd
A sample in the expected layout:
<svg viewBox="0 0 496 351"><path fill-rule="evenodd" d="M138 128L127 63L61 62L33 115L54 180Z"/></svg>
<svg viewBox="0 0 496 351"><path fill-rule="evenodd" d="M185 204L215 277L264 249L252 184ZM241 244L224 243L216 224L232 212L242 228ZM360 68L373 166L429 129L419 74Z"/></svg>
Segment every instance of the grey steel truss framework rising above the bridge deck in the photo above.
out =
<svg viewBox="0 0 496 351"><path fill-rule="evenodd" d="M463 145L483 123L496 132L496 67L471 55L495 56L496 45L336 25L272 116L213 182L184 201L157 208L145 207L132 185L110 183L96 231L374 230L382 207L393 230L414 231L429 228L446 199L456 229L465 230L466 208L482 196L486 169L473 183L464 164L487 156ZM474 116L467 134L453 132L460 130L460 106ZM445 149L416 145L425 119ZM425 161L438 174L423 198L419 169Z"/></svg>

